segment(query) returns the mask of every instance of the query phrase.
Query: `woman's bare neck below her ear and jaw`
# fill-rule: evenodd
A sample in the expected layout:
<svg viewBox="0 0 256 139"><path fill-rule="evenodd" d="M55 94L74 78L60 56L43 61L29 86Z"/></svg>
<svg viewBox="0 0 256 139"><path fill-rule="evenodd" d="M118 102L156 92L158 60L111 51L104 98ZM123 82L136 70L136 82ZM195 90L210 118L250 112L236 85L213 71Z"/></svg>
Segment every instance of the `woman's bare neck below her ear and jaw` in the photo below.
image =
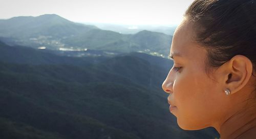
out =
<svg viewBox="0 0 256 139"><path fill-rule="evenodd" d="M222 139L252 138L256 136L256 106L243 105L234 112L221 126L216 128Z"/></svg>

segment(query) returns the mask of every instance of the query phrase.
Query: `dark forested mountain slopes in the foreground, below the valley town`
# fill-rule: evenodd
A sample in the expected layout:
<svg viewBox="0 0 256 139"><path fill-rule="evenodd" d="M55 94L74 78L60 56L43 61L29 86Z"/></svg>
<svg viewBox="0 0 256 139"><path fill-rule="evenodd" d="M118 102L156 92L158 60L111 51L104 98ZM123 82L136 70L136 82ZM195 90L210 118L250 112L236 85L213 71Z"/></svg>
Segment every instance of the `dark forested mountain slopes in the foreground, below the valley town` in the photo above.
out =
<svg viewBox="0 0 256 139"><path fill-rule="evenodd" d="M219 136L178 127L161 89L168 59L67 57L3 42L0 53L1 139Z"/></svg>

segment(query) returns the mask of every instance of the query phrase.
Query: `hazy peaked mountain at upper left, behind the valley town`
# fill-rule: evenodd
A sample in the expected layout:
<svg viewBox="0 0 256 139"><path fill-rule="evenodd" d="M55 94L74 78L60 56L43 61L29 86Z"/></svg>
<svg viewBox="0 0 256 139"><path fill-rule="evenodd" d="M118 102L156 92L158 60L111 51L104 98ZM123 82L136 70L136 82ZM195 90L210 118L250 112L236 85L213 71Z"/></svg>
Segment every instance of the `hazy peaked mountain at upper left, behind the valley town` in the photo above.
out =
<svg viewBox="0 0 256 139"><path fill-rule="evenodd" d="M48 36L55 38L69 37L97 29L94 26L77 24L56 14L45 14L37 17L19 16L7 20L0 20L0 36L20 39Z"/></svg>

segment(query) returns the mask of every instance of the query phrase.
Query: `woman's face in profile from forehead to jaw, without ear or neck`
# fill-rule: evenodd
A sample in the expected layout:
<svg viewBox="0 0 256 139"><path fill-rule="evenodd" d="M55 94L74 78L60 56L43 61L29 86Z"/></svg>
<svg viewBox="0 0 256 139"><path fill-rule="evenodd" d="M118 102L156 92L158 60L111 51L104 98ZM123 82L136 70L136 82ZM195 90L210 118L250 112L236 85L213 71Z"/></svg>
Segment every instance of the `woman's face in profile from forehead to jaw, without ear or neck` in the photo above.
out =
<svg viewBox="0 0 256 139"><path fill-rule="evenodd" d="M206 50L193 42L193 30L184 19L175 31L170 56L174 66L170 69L162 88L166 91L172 113L182 129L197 130L222 119L225 98L221 86L205 72ZM225 107L225 106L224 106Z"/></svg>

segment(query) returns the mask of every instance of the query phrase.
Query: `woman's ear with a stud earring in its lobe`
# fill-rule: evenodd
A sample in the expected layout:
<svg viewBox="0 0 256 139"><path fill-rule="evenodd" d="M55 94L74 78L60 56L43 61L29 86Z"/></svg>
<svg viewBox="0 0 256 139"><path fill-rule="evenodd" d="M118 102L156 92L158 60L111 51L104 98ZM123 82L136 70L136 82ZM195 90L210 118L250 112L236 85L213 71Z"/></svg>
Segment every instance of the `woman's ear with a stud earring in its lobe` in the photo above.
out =
<svg viewBox="0 0 256 139"><path fill-rule="evenodd" d="M242 89L252 75L252 63L243 55L236 55L218 69L219 81L223 91L229 89L231 94Z"/></svg>

